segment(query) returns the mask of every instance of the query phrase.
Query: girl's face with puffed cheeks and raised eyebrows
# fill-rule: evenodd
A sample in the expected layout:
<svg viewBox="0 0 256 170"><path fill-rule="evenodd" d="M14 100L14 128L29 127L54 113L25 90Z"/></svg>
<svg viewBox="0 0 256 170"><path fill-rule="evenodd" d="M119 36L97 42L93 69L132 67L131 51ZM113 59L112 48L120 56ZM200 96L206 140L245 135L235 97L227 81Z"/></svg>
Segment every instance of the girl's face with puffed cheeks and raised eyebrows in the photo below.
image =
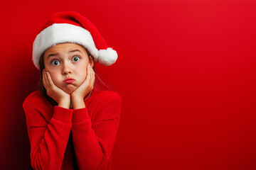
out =
<svg viewBox="0 0 256 170"><path fill-rule="evenodd" d="M70 42L50 47L43 54L43 62L53 83L68 94L85 81L87 65L94 64L84 47ZM68 78L73 80L67 81Z"/></svg>

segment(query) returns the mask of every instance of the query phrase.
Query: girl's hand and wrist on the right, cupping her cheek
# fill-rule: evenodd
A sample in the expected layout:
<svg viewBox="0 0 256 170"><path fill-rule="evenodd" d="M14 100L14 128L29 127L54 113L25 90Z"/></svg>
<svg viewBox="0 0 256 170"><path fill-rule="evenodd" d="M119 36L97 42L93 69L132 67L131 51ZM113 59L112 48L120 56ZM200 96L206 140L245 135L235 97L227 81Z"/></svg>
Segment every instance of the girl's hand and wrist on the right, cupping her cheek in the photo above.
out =
<svg viewBox="0 0 256 170"><path fill-rule="evenodd" d="M73 91L71 94L73 108L85 107L84 98L90 91L92 91L94 82L95 72L93 71L90 64L88 64L85 81L83 81L82 84L78 86L78 89L75 89L75 91Z"/></svg>

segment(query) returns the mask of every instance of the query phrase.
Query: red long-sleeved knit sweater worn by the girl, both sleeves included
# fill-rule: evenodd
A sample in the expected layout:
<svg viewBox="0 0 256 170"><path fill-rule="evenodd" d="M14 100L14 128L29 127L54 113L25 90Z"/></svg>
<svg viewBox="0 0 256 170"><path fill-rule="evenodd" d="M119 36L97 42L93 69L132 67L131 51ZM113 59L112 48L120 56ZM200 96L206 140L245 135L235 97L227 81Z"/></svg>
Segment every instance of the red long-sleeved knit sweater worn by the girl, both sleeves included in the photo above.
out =
<svg viewBox="0 0 256 170"><path fill-rule="evenodd" d="M92 90L85 108L52 106L39 91L23 102L33 169L110 169L121 96Z"/></svg>

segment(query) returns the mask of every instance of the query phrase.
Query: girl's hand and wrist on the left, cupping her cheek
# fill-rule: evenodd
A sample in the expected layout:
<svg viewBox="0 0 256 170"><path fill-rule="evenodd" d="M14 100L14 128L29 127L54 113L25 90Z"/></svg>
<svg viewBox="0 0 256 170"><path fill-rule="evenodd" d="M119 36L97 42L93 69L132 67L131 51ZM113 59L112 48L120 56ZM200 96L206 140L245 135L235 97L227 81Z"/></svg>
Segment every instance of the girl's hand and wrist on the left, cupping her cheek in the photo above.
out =
<svg viewBox="0 0 256 170"><path fill-rule="evenodd" d="M46 69L43 69L43 86L46 88L47 95L53 98L58 103L58 106L63 108L70 107L70 95L55 86L50 73L46 72Z"/></svg>

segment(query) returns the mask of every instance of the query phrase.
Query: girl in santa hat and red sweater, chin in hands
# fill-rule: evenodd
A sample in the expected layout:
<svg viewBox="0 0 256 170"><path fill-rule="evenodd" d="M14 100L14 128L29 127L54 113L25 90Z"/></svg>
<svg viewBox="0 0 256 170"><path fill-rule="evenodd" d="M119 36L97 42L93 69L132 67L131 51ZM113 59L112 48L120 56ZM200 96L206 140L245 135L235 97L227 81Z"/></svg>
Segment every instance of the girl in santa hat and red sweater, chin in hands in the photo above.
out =
<svg viewBox="0 0 256 170"><path fill-rule="evenodd" d="M54 13L33 42L38 91L23 102L33 169L110 169L121 96L101 90L94 64L117 60L90 21Z"/></svg>

